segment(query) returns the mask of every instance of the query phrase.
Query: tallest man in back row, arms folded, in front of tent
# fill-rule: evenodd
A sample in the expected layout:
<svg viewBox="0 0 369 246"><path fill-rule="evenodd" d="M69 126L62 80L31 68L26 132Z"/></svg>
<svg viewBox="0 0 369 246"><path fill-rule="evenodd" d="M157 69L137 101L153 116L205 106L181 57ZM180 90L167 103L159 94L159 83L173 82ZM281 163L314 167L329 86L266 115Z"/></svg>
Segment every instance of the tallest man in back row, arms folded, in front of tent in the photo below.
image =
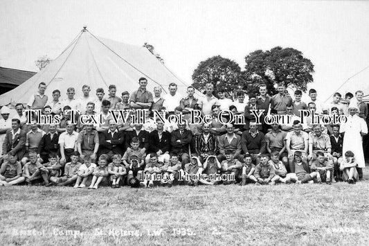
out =
<svg viewBox="0 0 369 246"><path fill-rule="evenodd" d="M138 84L140 85L140 87L137 91L134 91L131 94L131 98L129 98L131 107L135 109L149 109L154 100L152 98L152 93L146 90L147 79L141 77L138 80Z"/></svg>

